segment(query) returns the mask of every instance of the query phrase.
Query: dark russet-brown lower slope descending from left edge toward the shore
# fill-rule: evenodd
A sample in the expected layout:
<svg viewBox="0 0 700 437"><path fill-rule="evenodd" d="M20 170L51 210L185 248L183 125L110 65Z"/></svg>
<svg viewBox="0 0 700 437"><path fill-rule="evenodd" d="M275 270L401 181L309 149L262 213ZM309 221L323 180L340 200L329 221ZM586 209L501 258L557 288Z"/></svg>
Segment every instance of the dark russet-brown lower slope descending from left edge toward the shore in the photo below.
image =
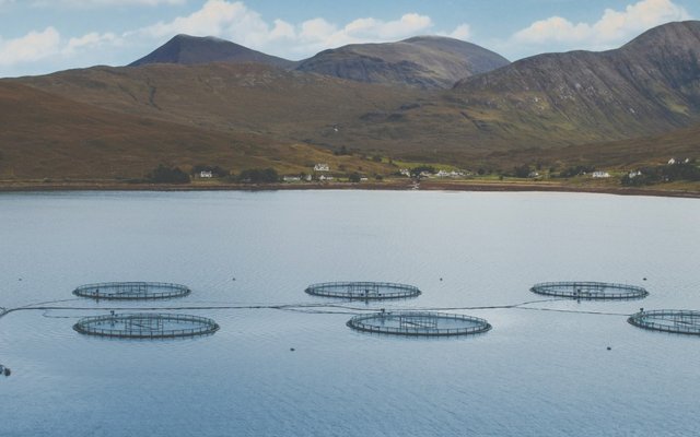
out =
<svg viewBox="0 0 700 437"><path fill-rule="evenodd" d="M115 113L7 81L0 82L0 114L2 179L141 178L160 163L299 173L330 162L385 170L305 144Z"/></svg>

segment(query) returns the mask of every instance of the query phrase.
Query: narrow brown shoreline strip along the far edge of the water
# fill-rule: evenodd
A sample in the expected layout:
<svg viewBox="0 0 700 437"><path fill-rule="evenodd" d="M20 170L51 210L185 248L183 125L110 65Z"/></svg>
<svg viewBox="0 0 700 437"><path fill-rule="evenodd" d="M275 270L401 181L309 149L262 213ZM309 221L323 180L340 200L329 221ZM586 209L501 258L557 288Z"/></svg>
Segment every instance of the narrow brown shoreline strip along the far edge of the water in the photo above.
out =
<svg viewBox="0 0 700 437"><path fill-rule="evenodd" d="M480 191L480 192L582 192L617 196L653 196L700 199L700 191L627 187L578 187L547 182L334 182L334 184L217 184L164 185L118 182L0 182L0 192L54 191L280 191L280 190L384 190L384 191Z"/></svg>

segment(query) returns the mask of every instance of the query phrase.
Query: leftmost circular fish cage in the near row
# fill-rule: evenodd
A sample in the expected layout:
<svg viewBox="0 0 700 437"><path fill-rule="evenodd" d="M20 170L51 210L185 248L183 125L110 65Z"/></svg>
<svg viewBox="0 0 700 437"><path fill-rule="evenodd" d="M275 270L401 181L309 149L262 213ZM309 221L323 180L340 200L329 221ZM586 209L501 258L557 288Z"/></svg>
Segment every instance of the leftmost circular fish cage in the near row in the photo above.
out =
<svg viewBox="0 0 700 437"><path fill-rule="evenodd" d="M119 339L175 339L213 334L219 324L199 316L142 312L85 317L73 329L81 334Z"/></svg>

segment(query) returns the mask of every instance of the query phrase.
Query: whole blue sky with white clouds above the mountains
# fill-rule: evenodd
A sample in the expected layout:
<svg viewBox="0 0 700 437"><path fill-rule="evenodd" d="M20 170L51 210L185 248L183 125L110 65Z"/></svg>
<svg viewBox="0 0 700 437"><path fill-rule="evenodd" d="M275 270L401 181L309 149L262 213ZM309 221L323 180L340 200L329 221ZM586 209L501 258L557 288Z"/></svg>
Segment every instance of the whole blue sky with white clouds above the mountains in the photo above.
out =
<svg viewBox="0 0 700 437"><path fill-rule="evenodd" d="M700 19L700 0L0 0L0 78L124 66L177 34L299 60L354 43L443 35L510 60L616 48Z"/></svg>

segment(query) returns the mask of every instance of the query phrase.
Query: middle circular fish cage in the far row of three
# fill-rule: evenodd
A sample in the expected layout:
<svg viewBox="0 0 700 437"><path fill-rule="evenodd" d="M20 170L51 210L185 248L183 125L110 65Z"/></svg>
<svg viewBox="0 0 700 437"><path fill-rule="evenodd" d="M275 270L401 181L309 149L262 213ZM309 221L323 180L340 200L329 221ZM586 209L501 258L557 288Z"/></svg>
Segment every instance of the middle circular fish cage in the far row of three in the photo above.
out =
<svg viewBox="0 0 700 437"><path fill-rule="evenodd" d="M362 300L400 299L416 297L421 293L413 285L390 282L324 282L310 285L304 292L313 296Z"/></svg>

